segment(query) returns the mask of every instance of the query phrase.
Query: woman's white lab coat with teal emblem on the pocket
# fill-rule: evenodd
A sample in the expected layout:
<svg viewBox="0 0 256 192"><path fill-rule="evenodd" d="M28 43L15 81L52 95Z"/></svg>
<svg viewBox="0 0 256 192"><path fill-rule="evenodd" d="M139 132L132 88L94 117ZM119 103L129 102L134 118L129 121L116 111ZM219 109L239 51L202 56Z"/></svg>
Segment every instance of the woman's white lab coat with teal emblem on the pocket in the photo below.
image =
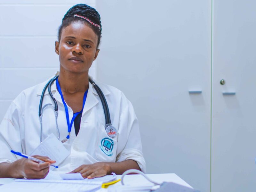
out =
<svg viewBox="0 0 256 192"><path fill-rule="evenodd" d="M38 106L42 90L47 81L24 90L12 101L0 124L0 163L13 162L21 158L12 154L10 150L29 155L40 144ZM105 131L102 103L92 84L89 83L79 133L76 136L73 124L70 139L63 144L70 151L70 155L60 163L58 171L69 172L82 164L120 162L132 159L145 172L139 124L132 104L118 89L97 81L95 83L98 84L106 97L111 123L117 129L117 137L111 138L113 140L112 151L106 154L101 150L102 139L109 137ZM56 81L52 84L51 90L59 106L58 125L60 140L62 140L67 136L68 127L65 108L57 91ZM47 103L53 103L48 90L44 95L43 106ZM68 113L71 121L73 111L69 106ZM45 108L42 119L42 140L51 133L57 136L53 108Z"/></svg>

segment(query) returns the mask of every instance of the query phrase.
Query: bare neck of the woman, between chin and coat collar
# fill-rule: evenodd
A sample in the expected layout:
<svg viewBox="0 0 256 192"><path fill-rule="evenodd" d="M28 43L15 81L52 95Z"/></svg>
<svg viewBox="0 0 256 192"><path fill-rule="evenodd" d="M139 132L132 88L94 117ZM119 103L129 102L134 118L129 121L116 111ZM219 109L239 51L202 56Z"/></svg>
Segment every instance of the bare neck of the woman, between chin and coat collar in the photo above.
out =
<svg viewBox="0 0 256 192"><path fill-rule="evenodd" d="M58 77L62 92L76 93L85 92L89 88L88 71L85 73L72 73L66 70L61 70Z"/></svg>

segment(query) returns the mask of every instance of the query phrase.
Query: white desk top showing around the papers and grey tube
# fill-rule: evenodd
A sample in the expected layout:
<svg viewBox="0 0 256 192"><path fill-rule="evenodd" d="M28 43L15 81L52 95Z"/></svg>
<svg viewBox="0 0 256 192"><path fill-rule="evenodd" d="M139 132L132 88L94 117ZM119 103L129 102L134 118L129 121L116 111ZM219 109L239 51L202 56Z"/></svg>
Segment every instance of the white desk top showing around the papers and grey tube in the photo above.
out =
<svg viewBox="0 0 256 192"><path fill-rule="evenodd" d="M188 183L186 183L184 180L182 180L178 175L175 173L164 173L164 174L147 174L147 176L156 181L156 182L174 182L178 183L180 185L184 185L186 187L192 188ZM117 175L117 179L121 179L121 175ZM6 184L9 182L13 182L14 179L0 179L0 185ZM150 186L153 185L148 180L146 180L142 175L125 175L124 176L124 184L129 186ZM114 188L117 185L121 185L121 181L118 183L109 186L108 189Z"/></svg>

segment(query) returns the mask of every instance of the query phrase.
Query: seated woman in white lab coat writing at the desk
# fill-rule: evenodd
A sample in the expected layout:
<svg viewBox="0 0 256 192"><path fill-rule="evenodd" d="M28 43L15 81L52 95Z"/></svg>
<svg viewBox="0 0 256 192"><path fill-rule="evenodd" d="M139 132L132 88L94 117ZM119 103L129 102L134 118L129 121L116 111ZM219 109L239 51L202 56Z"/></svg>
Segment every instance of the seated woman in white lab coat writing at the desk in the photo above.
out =
<svg viewBox="0 0 256 192"><path fill-rule="evenodd" d="M84 178L111 172L122 174L127 169L145 172L138 121L131 103L116 88L96 82L106 98L111 123L117 131L115 137L109 137L100 96L89 83L88 71L99 54L100 37L100 15L94 8L77 4L65 14L55 42L60 74L51 91L59 106L60 140L67 138L63 145L70 155L56 171L78 172ZM53 111L45 108L40 138L37 111L46 83L21 92L11 103L0 125L2 178L41 179L48 174L50 164L55 163L47 157L35 156L45 161L38 164L10 153L10 150L15 150L29 155L40 140L56 130ZM44 93L43 105L47 103L53 104L48 91ZM102 146L105 140L111 146L109 150Z"/></svg>

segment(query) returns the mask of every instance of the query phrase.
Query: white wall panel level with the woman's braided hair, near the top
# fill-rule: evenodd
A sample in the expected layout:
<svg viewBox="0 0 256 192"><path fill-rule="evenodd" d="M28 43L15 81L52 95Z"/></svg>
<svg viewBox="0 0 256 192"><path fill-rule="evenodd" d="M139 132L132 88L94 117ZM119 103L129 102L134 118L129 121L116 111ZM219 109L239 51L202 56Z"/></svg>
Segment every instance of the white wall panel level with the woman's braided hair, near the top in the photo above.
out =
<svg viewBox="0 0 256 192"><path fill-rule="evenodd" d="M56 36L70 5L0 5L0 36Z"/></svg>

